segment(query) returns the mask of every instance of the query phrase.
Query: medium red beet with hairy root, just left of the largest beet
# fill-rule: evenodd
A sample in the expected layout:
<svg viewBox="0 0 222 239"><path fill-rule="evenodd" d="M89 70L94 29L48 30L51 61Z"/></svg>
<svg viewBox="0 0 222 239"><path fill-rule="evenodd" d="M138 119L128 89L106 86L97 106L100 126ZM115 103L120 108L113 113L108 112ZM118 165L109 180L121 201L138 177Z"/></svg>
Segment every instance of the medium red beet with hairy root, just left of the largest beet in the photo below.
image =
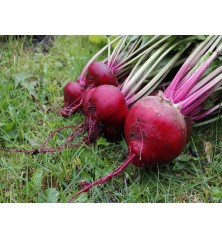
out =
<svg viewBox="0 0 222 239"><path fill-rule="evenodd" d="M128 113L122 93L112 85L89 89L83 98L83 108L90 142L97 139L104 127L123 127Z"/></svg>

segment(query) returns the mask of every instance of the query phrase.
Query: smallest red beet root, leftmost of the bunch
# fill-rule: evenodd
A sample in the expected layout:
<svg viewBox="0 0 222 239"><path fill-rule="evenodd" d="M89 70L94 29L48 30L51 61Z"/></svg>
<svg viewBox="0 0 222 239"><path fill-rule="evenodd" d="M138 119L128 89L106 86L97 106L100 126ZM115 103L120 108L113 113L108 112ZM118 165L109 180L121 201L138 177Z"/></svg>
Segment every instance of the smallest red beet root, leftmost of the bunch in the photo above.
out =
<svg viewBox="0 0 222 239"><path fill-rule="evenodd" d="M68 82L64 87L63 117L67 117L82 107L84 88L78 82Z"/></svg>

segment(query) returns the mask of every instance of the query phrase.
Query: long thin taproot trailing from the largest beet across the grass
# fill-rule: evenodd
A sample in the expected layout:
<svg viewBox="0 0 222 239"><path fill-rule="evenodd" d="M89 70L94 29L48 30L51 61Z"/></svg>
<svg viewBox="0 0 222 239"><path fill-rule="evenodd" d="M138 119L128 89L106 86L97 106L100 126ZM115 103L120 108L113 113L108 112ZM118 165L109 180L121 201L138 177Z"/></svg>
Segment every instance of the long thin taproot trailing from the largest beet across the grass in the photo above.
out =
<svg viewBox="0 0 222 239"><path fill-rule="evenodd" d="M133 159L135 159L137 157L136 154L132 154L130 155L125 161L122 162L122 164L116 168L113 172L109 173L108 175L96 180L95 182L92 182L90 184L88 184L87 186L85 186L83 189L81 189L80 191L78 191L76 194L74 194L67 202L70 203L72 202L78 195L84 193L84 192L88 192L92 187L99 185L99 184L103 184L106 181L108 181L110 178L115 177L117 174L121 173L132 161Z"/></svg>

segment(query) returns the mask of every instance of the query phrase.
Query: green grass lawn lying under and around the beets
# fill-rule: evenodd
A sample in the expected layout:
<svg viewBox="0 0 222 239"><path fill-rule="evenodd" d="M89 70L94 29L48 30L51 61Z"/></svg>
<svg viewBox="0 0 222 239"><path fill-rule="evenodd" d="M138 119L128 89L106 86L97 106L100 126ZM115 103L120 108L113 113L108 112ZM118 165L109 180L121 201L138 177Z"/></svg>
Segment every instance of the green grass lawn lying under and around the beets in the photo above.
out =
<svg viewBox="0 0 222 239"><path fill-rule="evenodd" d="M56 37L48 53L41 46L34 50L28 38L1 42L0 147L33 149L57 127L83 120L81 114L59 116L63 87L77 79L99 48L81 36ZM194 129L184 153L169 165L153 170L129 166L75 202L221 201L221 125L218 121ZM60 144L68 133L58 134L50 146ZM98 179L117 167L126 150L124 140L114 144L101 137L97 144L61 153L0 151L0 202L66 202L82 180Z"/></svg>

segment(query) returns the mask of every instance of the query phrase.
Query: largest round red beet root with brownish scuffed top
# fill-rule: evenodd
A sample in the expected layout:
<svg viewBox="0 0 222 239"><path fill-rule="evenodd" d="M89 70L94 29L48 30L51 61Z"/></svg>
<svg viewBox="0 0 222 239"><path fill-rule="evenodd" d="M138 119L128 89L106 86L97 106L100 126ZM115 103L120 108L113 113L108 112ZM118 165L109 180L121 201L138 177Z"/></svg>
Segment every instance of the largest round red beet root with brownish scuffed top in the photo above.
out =
<svg viewBox="0 0 222 239"><path fill-rule="evenodd" d="M138 101L126 117L124 133L135 166L169 163L181 154L187 139L183 115L159 96Z"/></svg>

